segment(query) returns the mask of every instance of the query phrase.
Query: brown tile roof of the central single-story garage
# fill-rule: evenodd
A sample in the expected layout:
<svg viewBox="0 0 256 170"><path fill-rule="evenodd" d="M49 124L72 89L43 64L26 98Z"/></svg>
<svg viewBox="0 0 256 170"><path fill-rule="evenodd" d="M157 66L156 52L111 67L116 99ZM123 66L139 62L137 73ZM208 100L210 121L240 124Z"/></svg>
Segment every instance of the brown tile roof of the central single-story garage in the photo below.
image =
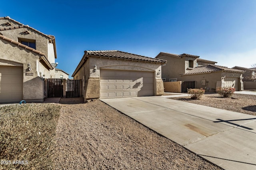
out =
<svg viewBox="0 0 256 170"><path fill-rule="evenodd" d="M148 61L154 63L166 63L166 60L162 59L154 59L142 55L136 55L132 53L126 53L118 50L105 50L105 51L84 51L85 55L94 55L94 56L102 56L102 57L112 57L119 59L130 59L130 60L138 60L138 61Z"/></svg>

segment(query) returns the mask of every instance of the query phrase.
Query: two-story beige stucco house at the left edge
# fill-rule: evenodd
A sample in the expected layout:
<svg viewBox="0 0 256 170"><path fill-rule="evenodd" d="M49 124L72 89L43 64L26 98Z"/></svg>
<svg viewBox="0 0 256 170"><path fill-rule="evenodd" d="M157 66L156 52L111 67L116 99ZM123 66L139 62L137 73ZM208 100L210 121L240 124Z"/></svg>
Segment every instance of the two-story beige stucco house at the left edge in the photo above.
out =
<svg viewBox="0 0 256 170"><path fill-rule="evenodd" d="M44 78L54 78L55 37L10 17L0 18L0 103L43 102Z"/></svg>

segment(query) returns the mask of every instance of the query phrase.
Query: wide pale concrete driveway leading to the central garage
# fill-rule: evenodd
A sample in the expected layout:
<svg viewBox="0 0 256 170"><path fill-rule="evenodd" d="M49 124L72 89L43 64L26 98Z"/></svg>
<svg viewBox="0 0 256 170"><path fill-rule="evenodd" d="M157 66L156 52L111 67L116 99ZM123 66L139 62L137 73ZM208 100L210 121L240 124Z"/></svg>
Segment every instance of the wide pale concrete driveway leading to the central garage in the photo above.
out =
<svg viewBox="0 0 256 170"><path fill-rule="evenodd" d="M160 96L102 101L226 170L256 169L256 116Z"/></svg>

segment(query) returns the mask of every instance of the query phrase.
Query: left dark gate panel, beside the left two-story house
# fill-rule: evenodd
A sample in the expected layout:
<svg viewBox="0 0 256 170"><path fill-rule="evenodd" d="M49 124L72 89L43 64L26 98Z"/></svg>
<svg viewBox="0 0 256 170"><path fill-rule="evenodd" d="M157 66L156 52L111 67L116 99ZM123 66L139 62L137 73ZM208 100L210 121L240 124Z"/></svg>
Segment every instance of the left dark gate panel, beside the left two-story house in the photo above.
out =
<svg viewBox="0 0 256 170"><path fill-rule="evenodd" d="M49 78L47 81L47 97L63 98L63 80L60 78Z"/></svg>

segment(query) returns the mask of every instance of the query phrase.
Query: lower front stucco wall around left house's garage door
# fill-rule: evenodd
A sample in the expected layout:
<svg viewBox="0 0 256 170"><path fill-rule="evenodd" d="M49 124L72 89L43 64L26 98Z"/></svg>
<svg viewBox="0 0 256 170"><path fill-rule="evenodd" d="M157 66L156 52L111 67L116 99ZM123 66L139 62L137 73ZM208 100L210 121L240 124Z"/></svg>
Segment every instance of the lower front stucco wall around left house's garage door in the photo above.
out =
<svg viewBox="0 0 256 170"><path fill-rule="evenodd" d="M39 55L26 49L0 40L0 65L23 66L23 99L28 102L42 102L44 99L44 80L38 77ZM28 63L32 70L28 70ZM33 76L25 75L26 72Z"/></svg>

